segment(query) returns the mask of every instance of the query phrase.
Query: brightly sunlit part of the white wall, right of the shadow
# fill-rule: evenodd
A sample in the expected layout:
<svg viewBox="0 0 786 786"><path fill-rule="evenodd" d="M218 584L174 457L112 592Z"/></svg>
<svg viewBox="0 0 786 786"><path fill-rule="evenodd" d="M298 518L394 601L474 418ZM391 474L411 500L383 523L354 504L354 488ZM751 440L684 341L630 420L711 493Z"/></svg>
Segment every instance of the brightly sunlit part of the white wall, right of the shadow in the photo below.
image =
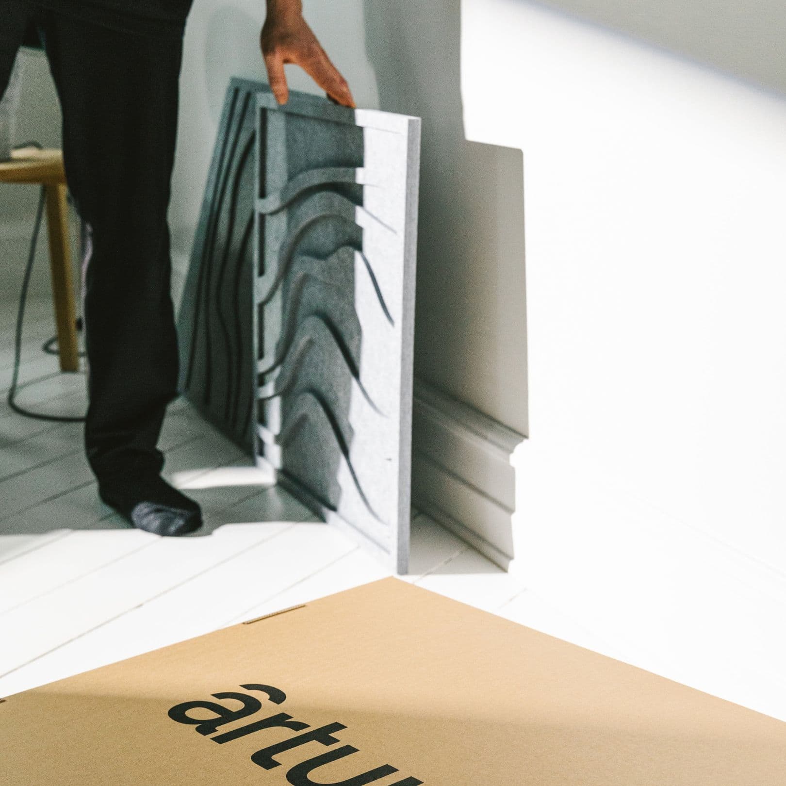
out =
<svg viewBox="0 0 786 786"><path fill-rule="evenodd" d="M516 568L634 662L786 717L786 101L464 9L468 133L524 152Z"/></svg>

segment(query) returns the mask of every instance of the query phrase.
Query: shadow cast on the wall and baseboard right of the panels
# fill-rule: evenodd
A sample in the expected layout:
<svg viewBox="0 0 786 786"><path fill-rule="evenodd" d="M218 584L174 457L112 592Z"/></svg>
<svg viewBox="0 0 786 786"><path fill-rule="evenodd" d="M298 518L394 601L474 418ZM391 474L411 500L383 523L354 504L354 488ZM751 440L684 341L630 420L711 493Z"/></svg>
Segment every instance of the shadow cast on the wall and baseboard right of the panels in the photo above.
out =
<svg viewBox="0 0 786 786"><path fill-rule="evenodd" d="M380 106L423 118L414 501L507 568L529 433L524 162L467 139L464 6L365 0L365 45Z"/></svg>

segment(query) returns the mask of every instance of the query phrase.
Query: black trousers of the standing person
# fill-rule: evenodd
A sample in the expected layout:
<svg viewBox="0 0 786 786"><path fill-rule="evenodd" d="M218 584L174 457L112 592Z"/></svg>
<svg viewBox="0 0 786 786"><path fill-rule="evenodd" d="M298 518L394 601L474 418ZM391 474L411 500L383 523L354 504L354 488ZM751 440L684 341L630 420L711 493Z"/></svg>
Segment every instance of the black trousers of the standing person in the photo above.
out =
<svg viewBox="0 0 786 786"><path fill-rule="evenodd" d="M160 472L156 443L178 379L167 207L185 13L182 24L159 26L57 7L0 0L0 94L34 24L63 110L68 187L87 230L87 457L99 479Z"/></svg>

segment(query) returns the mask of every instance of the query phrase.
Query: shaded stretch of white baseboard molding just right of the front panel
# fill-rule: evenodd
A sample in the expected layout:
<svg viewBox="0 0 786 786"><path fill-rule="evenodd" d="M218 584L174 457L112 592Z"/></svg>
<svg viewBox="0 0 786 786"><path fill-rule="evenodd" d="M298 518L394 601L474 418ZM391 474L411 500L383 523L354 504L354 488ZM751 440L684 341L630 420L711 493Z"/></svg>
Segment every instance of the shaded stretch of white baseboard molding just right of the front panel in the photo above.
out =
<svg viewBox="0 0 786 786"><path fill-rule="evenodd" d="M516 476L523 436L416 380L413 505L508 569L513 558Z"/></svg>

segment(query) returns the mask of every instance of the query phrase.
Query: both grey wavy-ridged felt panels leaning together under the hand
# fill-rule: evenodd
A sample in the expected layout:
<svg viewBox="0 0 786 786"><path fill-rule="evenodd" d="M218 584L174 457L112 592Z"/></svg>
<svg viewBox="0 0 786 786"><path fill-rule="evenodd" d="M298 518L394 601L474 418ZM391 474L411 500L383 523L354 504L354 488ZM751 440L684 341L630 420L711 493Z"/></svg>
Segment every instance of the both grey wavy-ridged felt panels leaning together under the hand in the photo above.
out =
<svg viewBox="0 0 786 786"><path fill-rule="evenodd" d="M233 80L181 311L183 387L406 571L420 121Z"/></svg>

